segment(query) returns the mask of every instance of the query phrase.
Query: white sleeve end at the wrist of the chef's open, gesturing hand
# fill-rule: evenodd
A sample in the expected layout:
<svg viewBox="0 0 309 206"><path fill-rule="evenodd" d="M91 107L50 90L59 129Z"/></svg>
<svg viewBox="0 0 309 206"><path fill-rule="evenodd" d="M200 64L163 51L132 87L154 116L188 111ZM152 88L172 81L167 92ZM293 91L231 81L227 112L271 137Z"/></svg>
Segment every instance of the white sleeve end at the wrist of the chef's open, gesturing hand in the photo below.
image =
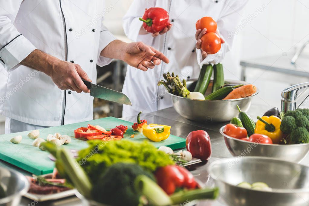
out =
<svg viewBox="0 0 309 206"><path fill-rule="evenodd" d="M97 61L97 64L100 67L108 65L109 63L112 62L113 59L107 58L107 57L104 57L104 56L100 56L100 53L109 43L111 43L114 40L116 40L116 38L114 37L114 35L112 35L111 32L109 32L108 30L101 31L99 51L98 51L98 61Z"/></svg>

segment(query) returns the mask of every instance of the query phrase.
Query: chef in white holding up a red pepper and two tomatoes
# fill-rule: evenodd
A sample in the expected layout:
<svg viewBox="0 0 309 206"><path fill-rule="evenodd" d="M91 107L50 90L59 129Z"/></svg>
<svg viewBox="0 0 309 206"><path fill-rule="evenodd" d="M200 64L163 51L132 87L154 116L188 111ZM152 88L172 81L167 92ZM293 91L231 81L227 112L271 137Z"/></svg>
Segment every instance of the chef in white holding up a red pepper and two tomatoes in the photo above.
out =
<svg viewBox="0 0 309 206"><path fill-rule="evenodd" d="M247 0L134 0L125 14L124 30L128 38L151 44L162 51L170 63L155 66L142 72L128 66L122 90L132 101L132 107L124 105L123 116L135 116L139 111L153 112L172 106L171 97L163 86L157 86L163 73L175 72L182 79L197 78L201 64L221 62L232 46L234 36L229 35L240 23L241 10ZM162 32L148 33L142 17L146 8L161 7L169 13L170 26ZM218 25L217 33L222 38L221 50L213 55L201 51L201 36L195 23L203 16L212 17Z"/></svg>

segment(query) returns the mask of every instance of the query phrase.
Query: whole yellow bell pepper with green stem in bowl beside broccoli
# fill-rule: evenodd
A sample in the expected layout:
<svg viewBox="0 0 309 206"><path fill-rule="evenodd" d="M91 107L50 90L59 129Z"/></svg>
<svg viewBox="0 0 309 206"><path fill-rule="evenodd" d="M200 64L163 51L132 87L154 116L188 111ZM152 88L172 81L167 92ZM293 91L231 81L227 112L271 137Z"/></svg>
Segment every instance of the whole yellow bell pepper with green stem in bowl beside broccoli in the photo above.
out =
<svg viewBox="0 0 309 206"><path fill-rule="evenodd" d="M283 133L280 130L281 119L277 116L263 116L257 117L256 127L254 133L264 134L271 138L273 144L279 144L283 137Z"/></svg>

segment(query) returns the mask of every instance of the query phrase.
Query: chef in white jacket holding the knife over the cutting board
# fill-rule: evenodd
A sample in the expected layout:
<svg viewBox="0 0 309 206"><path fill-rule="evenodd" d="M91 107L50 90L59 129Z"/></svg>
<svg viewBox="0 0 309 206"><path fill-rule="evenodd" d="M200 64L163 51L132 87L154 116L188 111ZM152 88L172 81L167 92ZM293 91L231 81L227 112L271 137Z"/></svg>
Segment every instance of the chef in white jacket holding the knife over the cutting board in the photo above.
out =
<svg viewBox="0 0 309 206"><path fill-rule="evenodd" d="M97 64L116 58L147 70L168 63L142 42L116 40L102 24L111 9L101 0L0 0L6 133L91 120L93 97L81 77L95 83Z"/></svg>

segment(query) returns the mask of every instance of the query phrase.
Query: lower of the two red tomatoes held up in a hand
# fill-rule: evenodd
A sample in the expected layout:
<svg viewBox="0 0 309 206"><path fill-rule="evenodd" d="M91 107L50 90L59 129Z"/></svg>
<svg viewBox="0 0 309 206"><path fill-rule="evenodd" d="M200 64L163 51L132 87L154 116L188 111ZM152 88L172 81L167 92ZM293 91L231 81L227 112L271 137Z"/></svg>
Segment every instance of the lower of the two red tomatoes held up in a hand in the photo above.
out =
<svg viewBox="0 0 309 206"><path fill-rule="evenodd" d="M207 54L215 54L221 49L221 39L217 33L206 33L201 38L201 49Z"/></svg>

